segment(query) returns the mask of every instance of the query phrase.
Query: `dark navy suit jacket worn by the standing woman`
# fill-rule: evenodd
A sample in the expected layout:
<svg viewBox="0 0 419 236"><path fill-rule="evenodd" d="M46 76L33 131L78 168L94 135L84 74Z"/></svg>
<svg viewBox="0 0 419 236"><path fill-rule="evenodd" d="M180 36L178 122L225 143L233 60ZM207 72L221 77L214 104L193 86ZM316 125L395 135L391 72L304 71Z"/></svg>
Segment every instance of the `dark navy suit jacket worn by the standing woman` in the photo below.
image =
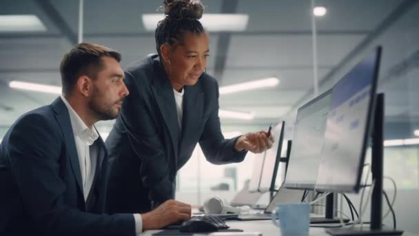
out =
<svg viewBox="0 0 419 236"><path fill-rule="evenodd" d="M125 71L130 95L106 145L113 163L108 185L110 212L145 212L174 199L176 172L199 142L213 164L243 161L246 152L224 139L218 118L218 84L207 74L185 86L182 129L173 88L157 55Z"/></svg>

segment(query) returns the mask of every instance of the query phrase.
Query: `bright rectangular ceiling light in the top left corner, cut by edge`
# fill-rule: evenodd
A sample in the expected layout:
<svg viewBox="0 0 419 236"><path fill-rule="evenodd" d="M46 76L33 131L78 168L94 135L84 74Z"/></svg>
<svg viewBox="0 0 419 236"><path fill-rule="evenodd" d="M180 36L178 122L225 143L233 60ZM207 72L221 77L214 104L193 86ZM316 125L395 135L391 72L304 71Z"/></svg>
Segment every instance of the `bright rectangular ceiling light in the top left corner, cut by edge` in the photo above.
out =
<svg viewBox="0 0 419 236"><path fill-rule="evenodd" d="M47 28L34 14L0 15L0 32L39 32Z"/></svg>

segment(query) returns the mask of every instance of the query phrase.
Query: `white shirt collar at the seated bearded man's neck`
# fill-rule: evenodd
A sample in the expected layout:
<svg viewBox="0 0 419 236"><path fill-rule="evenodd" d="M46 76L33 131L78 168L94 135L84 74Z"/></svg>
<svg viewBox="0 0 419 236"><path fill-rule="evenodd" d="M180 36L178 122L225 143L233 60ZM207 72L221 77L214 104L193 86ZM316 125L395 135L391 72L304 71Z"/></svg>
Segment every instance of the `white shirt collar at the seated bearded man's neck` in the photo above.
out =
<svg viewBox="0 0 419 236"><path fill-rule="evenodd" d="M92 129L88 128L83 120L77 115L76 111L70 106L67 99L63 95L60 96L61 100L63 100L65 106L68 109L68 114L70 115L70 122L72 126L72 130L74 132L74 136L80 137L80 139L88 144L89 146L99 138L99 134L96 131L96 128L93 126Z"/></svg>

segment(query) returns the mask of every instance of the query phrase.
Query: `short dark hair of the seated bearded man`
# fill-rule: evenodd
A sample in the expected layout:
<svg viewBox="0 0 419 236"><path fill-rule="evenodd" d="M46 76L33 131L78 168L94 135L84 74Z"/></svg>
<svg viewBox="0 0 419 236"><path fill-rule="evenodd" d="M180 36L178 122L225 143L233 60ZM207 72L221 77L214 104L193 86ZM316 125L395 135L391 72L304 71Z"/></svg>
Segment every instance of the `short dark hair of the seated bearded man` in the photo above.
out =
<svg viewBox="0 0 419 236"><path fill-rule="evenodd" d="M118 62L121 61L118 51L94 43L79 43L67 52L60 65L63 94L72 91L81 75L95 79L103 68L101 57L112 57Z"/></svg>

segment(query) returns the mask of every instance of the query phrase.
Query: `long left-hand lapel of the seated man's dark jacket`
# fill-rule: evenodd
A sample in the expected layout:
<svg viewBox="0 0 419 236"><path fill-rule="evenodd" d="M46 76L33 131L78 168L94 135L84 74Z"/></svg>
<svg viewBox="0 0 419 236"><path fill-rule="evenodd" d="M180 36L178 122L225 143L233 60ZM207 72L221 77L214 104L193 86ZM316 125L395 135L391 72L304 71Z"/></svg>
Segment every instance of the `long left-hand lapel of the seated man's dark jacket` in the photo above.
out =
<svg viewBox="0 0 419 236"><path fill-rule="evenodd" d="M57 98L53 103L52 107L56 112L57 121L63 130L63 135L65 139L65 148L68 150L68 157L70 157L70 164L72 172L77 181L77 186L79 190L83 193L83 188L81 184L81 171L79 164L79 155L77 155L76 142L74 141L74 133L71 126L70 115L68 114L68 109L65 106L61 98Z"/></svg>

